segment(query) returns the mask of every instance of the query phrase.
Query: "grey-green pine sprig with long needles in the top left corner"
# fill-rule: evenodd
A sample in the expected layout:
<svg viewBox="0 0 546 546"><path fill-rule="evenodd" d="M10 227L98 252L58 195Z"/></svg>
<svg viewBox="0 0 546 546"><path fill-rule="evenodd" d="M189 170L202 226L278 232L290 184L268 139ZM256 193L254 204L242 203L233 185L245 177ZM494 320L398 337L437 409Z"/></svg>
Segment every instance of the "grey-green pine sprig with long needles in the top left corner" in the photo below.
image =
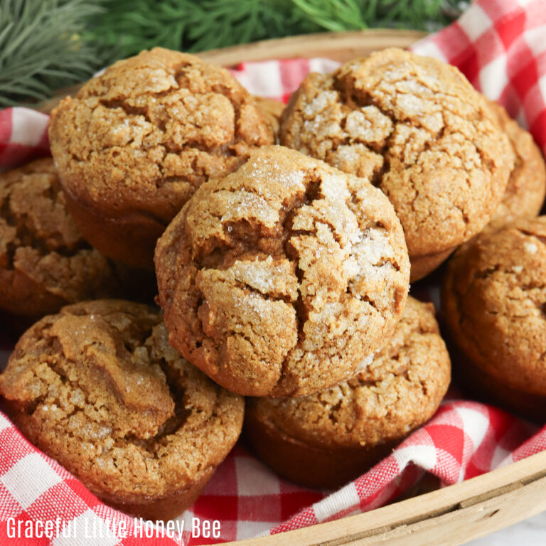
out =
<svg viewBox="0 0 546 546"><path fill-rule="evenodd" d="M99 1L0 0L0 106L41 100L89 77L104 62L82 40Z"/></svg>

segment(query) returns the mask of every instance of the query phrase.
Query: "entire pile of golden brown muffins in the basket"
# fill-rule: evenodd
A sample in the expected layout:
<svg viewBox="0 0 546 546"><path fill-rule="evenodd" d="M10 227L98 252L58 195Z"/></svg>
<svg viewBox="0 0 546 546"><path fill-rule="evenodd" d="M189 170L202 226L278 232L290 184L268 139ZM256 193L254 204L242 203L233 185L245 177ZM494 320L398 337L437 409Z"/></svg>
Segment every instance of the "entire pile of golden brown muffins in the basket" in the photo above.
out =
<svg viewBox="0 0 546 546"><path fill-rule="evenodd" d="M446 393L408 293L454 251L456 364L544 418L545 164L456 68L383 50L283 109L156 48L65 98L49 137L0 176L0 309L33 323L0 395L106 503L173 518L242 430L307 486L370 468Z"/></svg>

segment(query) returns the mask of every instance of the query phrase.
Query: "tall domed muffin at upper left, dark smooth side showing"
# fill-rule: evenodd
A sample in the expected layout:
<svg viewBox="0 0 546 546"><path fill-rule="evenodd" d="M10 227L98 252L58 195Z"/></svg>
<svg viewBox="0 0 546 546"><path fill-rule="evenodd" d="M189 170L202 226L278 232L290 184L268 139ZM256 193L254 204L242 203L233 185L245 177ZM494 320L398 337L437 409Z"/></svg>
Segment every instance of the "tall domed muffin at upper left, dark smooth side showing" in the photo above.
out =
<svg viewBox="0 0 546 546"><path fill-rule="evenodd" d="M154 48L63 100L49 138L87 240L109 257L153 268L157 238L196 188L235 171L275 135L228 70Z"/></svg>

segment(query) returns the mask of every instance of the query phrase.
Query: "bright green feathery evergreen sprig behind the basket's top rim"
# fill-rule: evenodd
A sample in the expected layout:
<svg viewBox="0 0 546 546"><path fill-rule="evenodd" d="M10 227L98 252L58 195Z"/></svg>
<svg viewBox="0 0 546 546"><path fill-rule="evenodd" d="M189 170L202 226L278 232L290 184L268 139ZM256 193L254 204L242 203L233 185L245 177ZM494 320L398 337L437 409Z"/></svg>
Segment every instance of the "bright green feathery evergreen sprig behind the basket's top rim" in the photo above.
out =
<svg viewBox="0 0 546 546"><path fill-rule="evenodd" d="M109 61L162 45L190 52L266 38L370 27L436 30L464 0L105 0L89 35Z"/></svg>

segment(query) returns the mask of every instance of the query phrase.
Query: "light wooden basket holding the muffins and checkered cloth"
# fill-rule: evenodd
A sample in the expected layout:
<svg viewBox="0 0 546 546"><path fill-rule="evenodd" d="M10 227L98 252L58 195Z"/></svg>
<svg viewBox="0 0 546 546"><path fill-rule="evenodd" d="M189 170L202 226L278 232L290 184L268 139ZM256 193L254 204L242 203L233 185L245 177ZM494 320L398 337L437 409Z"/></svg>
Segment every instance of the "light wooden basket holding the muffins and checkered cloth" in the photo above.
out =
<svg viewBox="0 0 546 546"><path fill-rule="evenodd" d="M323 33L267 40L200 53L200 58L232 66L245 61L325 57L344 62L372 51L407 48L422 38L417 31L370 30ZM70 87L40 109L49 112ZM459 545L513 525L546 510L546 451L477 478L309 528L258 539L228 542L237 546L281 545Z"/></svg>

